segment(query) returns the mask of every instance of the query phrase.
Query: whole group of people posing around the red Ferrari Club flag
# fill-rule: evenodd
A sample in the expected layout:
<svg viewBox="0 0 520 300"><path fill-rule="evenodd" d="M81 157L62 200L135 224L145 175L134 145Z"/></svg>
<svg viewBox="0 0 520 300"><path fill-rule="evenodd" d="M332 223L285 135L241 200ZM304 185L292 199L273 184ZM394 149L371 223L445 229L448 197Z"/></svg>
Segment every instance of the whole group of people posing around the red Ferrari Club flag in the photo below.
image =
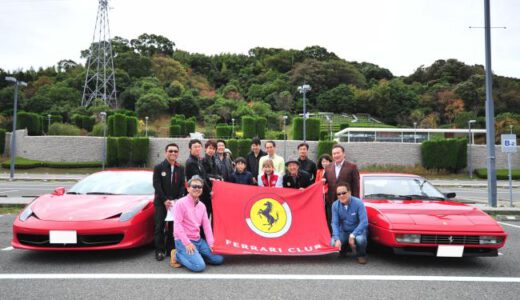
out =
<svg viewBox="0 0 520 300"><path fill-rule="evenodd" d="M308 157L309 145L298 145L298 157L287 161L276 154L276 143L253 139L246 157L231 159L224 140L190 140L190 155L183 167L178 162L179 146L165 147L165 159L154 167L154 241L158 261L170 255L172 267L185 266L201 272L206 263L219 265L223 257L213 253L211 190L213 181L263 187L305 189L323 181L324 206L331 231L331 245L340 256L350 249L365 264L367 215L359 199L359 172L346 161L345 149L336 144L332 157L320 156L317 164ZM186 183L187 182L187 183ZM170 212L173 222L165 221ZM202 232L201 232L202 228Z"/></svg>

